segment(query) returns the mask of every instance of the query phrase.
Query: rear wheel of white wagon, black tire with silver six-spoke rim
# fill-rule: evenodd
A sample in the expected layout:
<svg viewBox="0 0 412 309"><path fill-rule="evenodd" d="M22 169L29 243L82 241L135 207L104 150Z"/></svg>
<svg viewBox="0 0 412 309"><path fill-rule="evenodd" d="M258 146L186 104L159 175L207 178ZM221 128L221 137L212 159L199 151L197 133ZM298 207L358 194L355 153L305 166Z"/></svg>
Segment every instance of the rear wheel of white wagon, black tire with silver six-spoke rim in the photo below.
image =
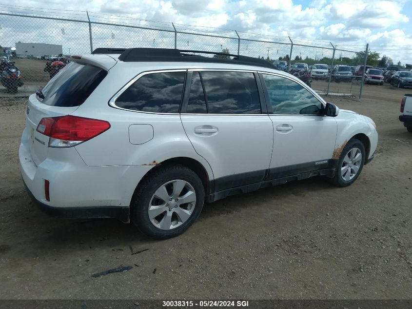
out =
<svg viewBox="0 0 412 309"><path fill-rule="evenodd" d="M131 220L149 237L175 237L195 222L204 198L202 181L193 170L183 165L159 166L133 195Z"/></svg>

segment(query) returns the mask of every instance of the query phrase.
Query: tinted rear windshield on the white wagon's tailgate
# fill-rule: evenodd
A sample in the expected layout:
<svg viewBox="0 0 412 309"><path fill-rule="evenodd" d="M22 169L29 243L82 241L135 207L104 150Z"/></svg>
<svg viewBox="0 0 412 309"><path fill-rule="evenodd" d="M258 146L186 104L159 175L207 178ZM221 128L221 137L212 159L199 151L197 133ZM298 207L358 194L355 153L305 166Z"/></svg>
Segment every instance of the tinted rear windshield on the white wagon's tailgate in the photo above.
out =
<svg viewBox="0 0 412 309"><path fill-rule="evenodd" d="M106 75L107 71L97 66L70 62L41 89L44 96L42 103L61 107L79 106Z"/></svg>

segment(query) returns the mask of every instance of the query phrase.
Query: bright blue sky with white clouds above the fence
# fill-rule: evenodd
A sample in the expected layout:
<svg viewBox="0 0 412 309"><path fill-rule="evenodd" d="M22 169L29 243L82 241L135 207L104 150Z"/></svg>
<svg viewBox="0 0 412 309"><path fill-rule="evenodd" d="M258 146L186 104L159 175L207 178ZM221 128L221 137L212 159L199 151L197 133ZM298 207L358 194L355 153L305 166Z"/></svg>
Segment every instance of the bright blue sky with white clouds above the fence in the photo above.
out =
<svg viewBox="0 0 412 309"><path fill-rule="evenodd" d="M186 25L194 25L202 31L228 33L228 36L232 36L233 33L230 34L228 30L204 27L236 29L241 36L262 34L267 36L264 38L268 41L276 39L282 41L282 38L276 37L290 36L308 40L307 42L311 44L316 41L318 44L326 45L328 41L332 41L338 47L351 50L360 50L362 45L369 42L373 51L391 57L394 62L412 63L412 1L410 0L43 0L41 2L20 0L18 4L16 3L13 3L16 6L3 3L0 5L0 10L74 18L84 16L82 12L76 11L88 10L94 12L90 13L92 19L100 21L157 25L164 28L170 28L170 24L131 18L175 22L181 29L190 28ZM0 15L0 23L7 24L4 16ZM0 31L4 29L5 26ZM37 31L41 30L38 28ZM103 38L104 30L99 31ZM107 31L110 32L112 39L118 37L113 30L107 29ZM158 41L162 38L164 39L159 37ZM187 41L190 47L190 42ZM225 42L220 43L225 47ZM231 48L231 52L235 48L228 47ZM242 50L248 48L252 47L242 45ZM261 49L266 47L263 48L262 45ZM270 52L272 55L275 51L272 49ZM276 50L276 53L284 54L283 50ZM314 53L317 54L317 51Z"/></svg>

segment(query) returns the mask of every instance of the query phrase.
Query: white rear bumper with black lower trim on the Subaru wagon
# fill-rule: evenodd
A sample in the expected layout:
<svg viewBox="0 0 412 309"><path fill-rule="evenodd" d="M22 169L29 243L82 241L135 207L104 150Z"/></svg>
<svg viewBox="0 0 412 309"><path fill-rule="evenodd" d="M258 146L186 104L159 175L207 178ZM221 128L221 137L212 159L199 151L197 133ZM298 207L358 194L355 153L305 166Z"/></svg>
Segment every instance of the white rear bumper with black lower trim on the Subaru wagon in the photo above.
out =
<svg viewBox="0 0 412 309"><path fill-rule="evenodd" d="M46 159L36 165L29 147L25 129L19 149L24 185L42 209L62 218L118 218L128 222L128 209L136 186L153 167L88 166L74 147L48 148ZM45 180L50 184L49 200Z"/></svg>

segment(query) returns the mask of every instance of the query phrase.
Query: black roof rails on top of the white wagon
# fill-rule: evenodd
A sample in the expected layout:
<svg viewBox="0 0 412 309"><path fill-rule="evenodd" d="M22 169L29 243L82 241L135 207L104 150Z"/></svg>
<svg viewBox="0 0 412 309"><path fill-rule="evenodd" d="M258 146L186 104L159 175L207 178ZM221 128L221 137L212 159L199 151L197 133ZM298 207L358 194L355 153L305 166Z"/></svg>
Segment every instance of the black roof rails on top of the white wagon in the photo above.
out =
<svg viewBox="0 0 412 309"><path fill-rule="evenodd" d="M120 53L118 60L123 62L210 62L210 63L227 63L227 64L242 64L242 65L255 65L267 68L275 68L275 66L267 62L266 60L238 56L233 54L226 54L222 52L210 52L201 50L187 50L187 49L172 49L172 48L127 48L127 49L115 49L115 48L98 48L93 53L100 54L105 53L108 50L109 53L117 51ZM209 58L200 55L191 55L186 53L202 53L212 55L225 55L233 57L233 59L221 59L221 58Z"/></svg>

